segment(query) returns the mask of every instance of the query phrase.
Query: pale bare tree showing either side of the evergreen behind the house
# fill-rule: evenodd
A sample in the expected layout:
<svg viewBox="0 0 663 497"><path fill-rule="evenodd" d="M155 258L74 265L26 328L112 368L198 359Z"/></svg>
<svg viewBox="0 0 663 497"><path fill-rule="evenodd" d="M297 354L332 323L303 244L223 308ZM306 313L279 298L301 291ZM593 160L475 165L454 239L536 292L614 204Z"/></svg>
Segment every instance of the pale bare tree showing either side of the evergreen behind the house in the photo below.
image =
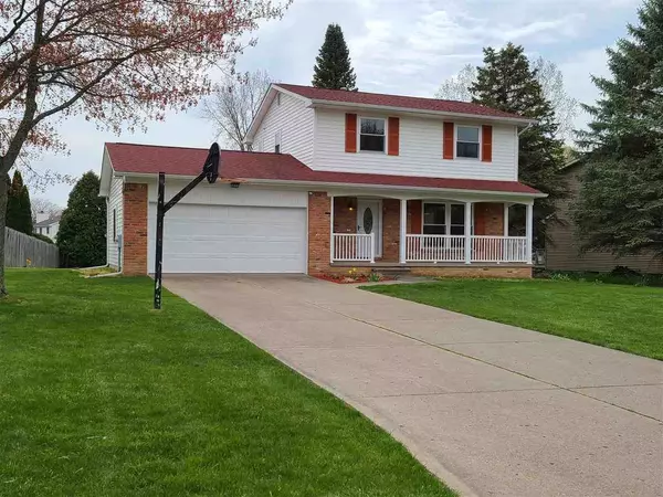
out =
<svg viewBox="0 0 663 497"><path fill-rule="evenodd" d="M572 138L573 119L578 115L578 101L567 93L561 71L554 62L546 61L540 56L530 60L529 64L537 74L544 96L555 109L555 118L559 124L558 136L562 139ZM475 81L476 67L467 64L457 74L442 82L435 98L471 102L470 87Z"/></svg>

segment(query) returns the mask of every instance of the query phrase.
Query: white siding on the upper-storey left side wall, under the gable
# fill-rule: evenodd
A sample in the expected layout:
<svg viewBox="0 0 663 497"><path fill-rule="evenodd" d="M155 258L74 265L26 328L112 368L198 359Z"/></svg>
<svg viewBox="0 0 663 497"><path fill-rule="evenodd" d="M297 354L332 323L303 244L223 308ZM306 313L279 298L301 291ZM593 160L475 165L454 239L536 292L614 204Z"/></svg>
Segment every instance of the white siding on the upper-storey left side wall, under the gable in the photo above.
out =
<svg viewBox="0 0 663 497"><path fill-rule="evenodd" d="M314 110L303 99L281 93L274 98L253 139L255 151L273 152L276 138L281 154L290 154L311 166L313 161Z"/></svg>

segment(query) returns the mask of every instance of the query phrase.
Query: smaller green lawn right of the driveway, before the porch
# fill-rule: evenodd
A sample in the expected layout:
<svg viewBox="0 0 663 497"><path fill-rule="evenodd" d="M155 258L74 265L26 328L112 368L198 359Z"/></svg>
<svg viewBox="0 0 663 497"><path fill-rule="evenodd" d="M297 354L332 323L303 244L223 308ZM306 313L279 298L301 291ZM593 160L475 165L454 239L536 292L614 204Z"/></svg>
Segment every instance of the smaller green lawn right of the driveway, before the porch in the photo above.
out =
<svg viewBox="0 0 663 497"><path fill-rule="evenodd" d="M443 279L365 289L663 360L663 288Z"/></svg>

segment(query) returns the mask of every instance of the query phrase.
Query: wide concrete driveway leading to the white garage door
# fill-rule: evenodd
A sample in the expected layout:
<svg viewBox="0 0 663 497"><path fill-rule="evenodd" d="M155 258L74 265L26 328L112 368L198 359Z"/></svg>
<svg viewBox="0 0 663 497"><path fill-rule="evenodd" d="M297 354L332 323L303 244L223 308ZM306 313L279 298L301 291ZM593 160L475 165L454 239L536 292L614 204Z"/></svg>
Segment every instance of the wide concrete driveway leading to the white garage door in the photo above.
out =
<svg viewBox="0 0 663 497"><path fill-rule="evenodd" d="M165 285L464 495L663 495L662 362L304 276Z"/></svg>

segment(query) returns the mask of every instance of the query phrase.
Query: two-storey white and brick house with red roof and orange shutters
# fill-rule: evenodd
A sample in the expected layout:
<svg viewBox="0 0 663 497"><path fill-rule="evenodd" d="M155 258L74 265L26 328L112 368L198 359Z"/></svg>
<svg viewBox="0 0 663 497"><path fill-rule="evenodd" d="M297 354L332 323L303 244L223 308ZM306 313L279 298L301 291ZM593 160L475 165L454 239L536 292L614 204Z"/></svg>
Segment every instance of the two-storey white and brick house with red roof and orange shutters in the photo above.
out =
<svg viewBox="0 0 663 497"><path fill-rule="evenodd" d="M532 212L518 182L530 119L475 104L274 84L220 178L166 214L165 273L532 275ZM207 149L106 144L108 261L154 272L157 177L166 198ZM526 236L507 236L527 207Z"/></svg>

